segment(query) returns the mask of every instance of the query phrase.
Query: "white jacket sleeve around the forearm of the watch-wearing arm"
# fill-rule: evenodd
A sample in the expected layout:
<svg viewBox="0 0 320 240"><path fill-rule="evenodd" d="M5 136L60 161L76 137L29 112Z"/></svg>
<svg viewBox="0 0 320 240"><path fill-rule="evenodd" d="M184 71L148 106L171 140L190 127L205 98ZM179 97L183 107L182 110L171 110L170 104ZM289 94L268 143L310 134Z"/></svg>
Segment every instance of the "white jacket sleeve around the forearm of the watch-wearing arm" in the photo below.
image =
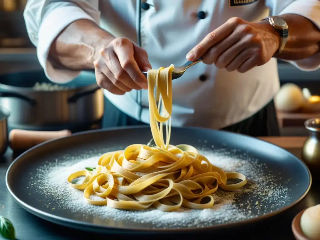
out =
<svg viewBox="0 0 320 240"><path fill-rule="evenodd" d="M272 15L298 14L308 18L319 28L320 31L320 0L267 0L267 3L273 10ZM320 69L320 52L307 59L285 61L291 63L302 71L315 71Z"/></svg>

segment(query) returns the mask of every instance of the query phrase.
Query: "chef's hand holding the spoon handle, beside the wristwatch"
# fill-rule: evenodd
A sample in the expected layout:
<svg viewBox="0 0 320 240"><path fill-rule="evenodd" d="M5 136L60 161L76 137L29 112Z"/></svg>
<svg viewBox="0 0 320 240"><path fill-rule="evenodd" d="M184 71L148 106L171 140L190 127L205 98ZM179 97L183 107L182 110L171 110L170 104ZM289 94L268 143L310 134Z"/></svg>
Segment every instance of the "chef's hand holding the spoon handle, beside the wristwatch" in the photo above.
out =
<svg viewBox="0 0 320 240"><path fill-rule="evenodd" d="M205 64L244 73L267 63L279 43L279 36L268 21L247 22L233 17L209 33L187 54L187 59L202 57Z"/></svg>

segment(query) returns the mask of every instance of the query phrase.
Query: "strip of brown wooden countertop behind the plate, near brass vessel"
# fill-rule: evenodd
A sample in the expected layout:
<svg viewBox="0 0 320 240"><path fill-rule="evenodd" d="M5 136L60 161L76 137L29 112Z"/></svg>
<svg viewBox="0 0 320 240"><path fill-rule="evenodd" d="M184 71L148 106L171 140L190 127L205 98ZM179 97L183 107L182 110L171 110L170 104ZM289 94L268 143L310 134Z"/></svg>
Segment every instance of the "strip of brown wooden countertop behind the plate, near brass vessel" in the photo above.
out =
<svg viewBox="0 0 320 240"><path fill-rule="evenodd" d="M258 137L281 148L302 148L307 137Z"/></svg>

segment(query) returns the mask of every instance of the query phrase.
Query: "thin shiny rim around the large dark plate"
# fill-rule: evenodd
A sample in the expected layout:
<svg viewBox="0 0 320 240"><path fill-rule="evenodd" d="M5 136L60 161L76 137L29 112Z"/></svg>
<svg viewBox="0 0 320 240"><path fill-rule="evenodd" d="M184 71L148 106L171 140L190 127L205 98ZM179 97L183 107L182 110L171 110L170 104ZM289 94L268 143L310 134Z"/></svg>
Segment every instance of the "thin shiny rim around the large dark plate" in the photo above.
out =
<svg viewBox="0 0 320 240"><path fill-rule="evenodd" d="M292 202L291 204L280 208L279 210L276 211L272 211L269 213L266 213L264 215L258 216L258 217L254 217L254 218L250 218L250 219L246 219L246 220L241 220L241 221L236 221L236 222L229 222L229 223L222 223L222 224L217 224L217 225L213 225L213 226L206 226L206 227L202 227L202 228L196 228L196 227L192 227L192 228L157 228L157 229L151 229L151 228L147 228L147 229L128 229L128 228L124 228L124 227L109 227L109 226L104 226L104 225L98 225L98 224L94 224L94 223L88 223L88 222L84 222L84 221L78 221L78 220L73 220L73 219L68 219L68 218L64 218L64 217L60 217L60 216L56 216L54 214L51 213L47 213L47 212L43 212L35 207L30 206L29 204L26 204L24 201L20 200L18 196L16 196L12 189L10 188L10 185L8 183L8 175L9 172L12 171L13 166L20 160L20 158L22 158L23 156L27 155L29 152L31 151L35 151L36 148L49 144L51 142L55 142L55 141L59 141L61 139L65 139L65 138L71 138L73 136L78 136L78 135L86 135L86 134L92 134L95 132L111 132L111 131L115 131L115 130L123 130L123 129L136 129L136 128L149 128L149 125L137 125L137 126L122 126L122 127L110 127L107 129L95 129L95 130L88 130L88 131L83 131L83 132L77 132L74 133L70 136L66 136L66 137L62 137L62 138L58 138L58 139L53 139L53 140L47 140L45 142L42 142L30 149L28 149L27 151L23 152L21 155L19 155L15 160L12 161L12 163L9 165L6 175L5 175L5 184L6 187L8 189L8 191L10 192L11 196L15 199L15 201L17 201L17 203L25 210L27 210L28 212L30 212L31 214L42 218L44 220L47 220L49 222L53 222L55 224L64 226L62 223L67 223L67 226L73 229L80 229L82 227L84 227L87 231L96 231L99 230L99 232L106 232L106 231L113 231L116 233L119 232L125 232L125 233L143 233L143 232L148 232L148 233L179 233L179 232L195 232L195 231L208 231L208 230L219 230L222 228L226 228L226 227L239 227L241 225L247 225L250 223L254 223L254 222L260 222L261 220L264 219L268 219L272 216L275 216L281 212L285 212L286 210L292 208L293 206L295 206L296 204L298 204L299 202L301 202L304 197L308 194L310 188L311 188L311 184L312 184L312 175L311 172L308 168L308 166L301 160L299 159L297 156L293 155L292 153L290 153L289 151L287 151L284 148L281 148L273 143L270 143L268 141L265 140L261 140L257 137L252 137L252 136L248 136L248 135L244 135L241 133L234 133L234 132L228 132L228 131L224 131L224 130L215 130L215 129L207 129L207 128L202 128L202 127L172 127L175 129L179 129L179 128L184 128L184 129L190 129L190 130L210 130L213 132L226 132L228 134L239 134L242 137L245 138L250 138L250 139L254 139L257 141L262 141L265 142L267 144L273 145L276 148L279 148L283 151L286 151L287 154L293 156L294 158L296 158L298 161L300 161L300 163L302 163L302 165L305 167L305 169L308 172L308 176L309 176L309 184L307 189L305 190L305 192L294 202Z"/></svg>

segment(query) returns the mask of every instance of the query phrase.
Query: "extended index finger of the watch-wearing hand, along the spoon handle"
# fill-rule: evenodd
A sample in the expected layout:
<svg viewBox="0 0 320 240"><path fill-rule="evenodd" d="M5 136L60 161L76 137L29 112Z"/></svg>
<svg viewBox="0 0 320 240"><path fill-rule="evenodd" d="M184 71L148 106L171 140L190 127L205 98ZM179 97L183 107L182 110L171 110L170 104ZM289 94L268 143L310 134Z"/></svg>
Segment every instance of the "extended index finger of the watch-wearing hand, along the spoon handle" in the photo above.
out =
<svg viewBox="0 0 320 240"><path fill-rule="evenodd" d="M219 28L215 29L209 33L205 38L197 44L190 52L187 54L187 59L189 61L194 61L200 58L205 52L207 52L213 45L222 41L224 38L229 36L235 27L243 22L242 19L234 17L230 18L227 22L222 24Z"/></svg>

